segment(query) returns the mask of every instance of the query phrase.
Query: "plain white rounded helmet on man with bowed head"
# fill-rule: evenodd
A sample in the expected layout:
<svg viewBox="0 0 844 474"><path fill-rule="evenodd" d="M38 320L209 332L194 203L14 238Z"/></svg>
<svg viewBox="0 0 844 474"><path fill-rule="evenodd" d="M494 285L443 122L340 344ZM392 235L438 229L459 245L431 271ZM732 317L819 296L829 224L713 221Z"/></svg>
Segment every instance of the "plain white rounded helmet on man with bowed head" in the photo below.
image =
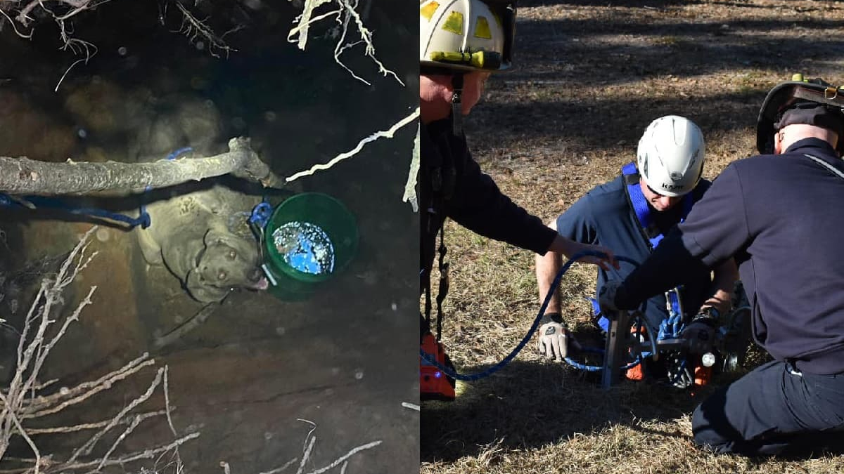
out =
<svg viewBox="0 0 844 474"><path fill-rule="evenodd" d="M704 148L703 132L695 122L659 117L639 140L639 174L653 191L682 196L701 180Z"/></svg>

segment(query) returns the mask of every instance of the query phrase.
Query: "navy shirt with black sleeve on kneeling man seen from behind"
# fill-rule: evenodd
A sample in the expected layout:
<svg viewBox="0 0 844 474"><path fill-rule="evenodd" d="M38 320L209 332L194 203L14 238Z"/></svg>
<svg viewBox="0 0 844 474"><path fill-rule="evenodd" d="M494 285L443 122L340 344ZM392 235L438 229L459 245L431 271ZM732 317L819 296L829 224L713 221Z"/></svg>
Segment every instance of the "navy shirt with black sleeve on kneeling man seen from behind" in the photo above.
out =
<svg viewBox="0 0 844 474"><path fill-rule="evenodd" d="M806 154L844 171L817 138L729 164L619 287L619 308L670 287L684 268L735 256L756 342L803 372L844 372L844 180Z"/></svg>

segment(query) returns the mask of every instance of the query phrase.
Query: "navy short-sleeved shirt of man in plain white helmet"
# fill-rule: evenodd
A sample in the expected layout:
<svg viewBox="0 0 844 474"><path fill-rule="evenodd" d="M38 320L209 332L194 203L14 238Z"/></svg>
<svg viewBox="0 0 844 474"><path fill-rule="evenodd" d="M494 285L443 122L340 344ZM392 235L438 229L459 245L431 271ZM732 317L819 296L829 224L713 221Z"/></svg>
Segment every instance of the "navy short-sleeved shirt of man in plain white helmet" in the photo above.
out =
<svg viewBox="0 0 844 474"><path fill-rule="evenodd" d="M710 182L707 180L701 180L695 186L691 191L695 201L703 196L709 186ZM650 207L650 204L648 206ZM657 212L652 207L650 211L657 229L664 235L679 223L683 203L679 202L663 212ZM603 245L612 249L616 255L630 257L638 262L645 261L651 254L650 243L642 233L636 213L627 200L624 176L620 175L606 184L595 186L572 204L557 218L557 231L571 240ZM634 267L629 263L621 262L620 265L619 273L622 277L633 271ZM610 277L612 276L611 273ZM684 276L686 281L680 297L684 310L694 314L711 295L711 274L703 271ZM606 281L606 277L607 273L598 269L598 288ZM668 317L664 293L648 299L645 315L652 327L658 327L660 321Z"/></svg>

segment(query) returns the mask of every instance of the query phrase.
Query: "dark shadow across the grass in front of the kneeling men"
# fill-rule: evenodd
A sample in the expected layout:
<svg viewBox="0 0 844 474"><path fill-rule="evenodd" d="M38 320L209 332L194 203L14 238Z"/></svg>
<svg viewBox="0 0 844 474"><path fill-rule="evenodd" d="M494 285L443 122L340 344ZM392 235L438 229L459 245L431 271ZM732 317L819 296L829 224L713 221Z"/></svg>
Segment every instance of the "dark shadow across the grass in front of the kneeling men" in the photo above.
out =
<svg viewBox="0 0 844 474"><path fill-rule="evenodd" d="M459 370L473 374L488 367ZM681 417L712 390L707 387L691 396L662 385L625 381L603 391L597 373L516 361L489 378L458 383L455 401L426 401L420 420L420 456L423 462L454 461L477 456L486 445L498 442L513 450L537 448L574 434L595 433L609 424L635 425L641 430L636 420ZM691 436L679 431L673 435Z"/></svg>

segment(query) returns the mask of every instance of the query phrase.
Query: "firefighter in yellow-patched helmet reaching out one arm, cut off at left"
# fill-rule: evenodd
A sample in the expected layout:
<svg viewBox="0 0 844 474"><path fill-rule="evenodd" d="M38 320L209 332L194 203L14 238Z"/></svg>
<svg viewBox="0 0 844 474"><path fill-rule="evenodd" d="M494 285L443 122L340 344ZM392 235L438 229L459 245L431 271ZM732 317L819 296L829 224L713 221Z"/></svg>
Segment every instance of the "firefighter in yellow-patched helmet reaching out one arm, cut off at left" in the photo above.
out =
<svg viewBox="0 0 844 474"><path fill-rule="evenodd" d="M612 252L583 245L557 234L512 202L481 172L463 134L467 116L484 92L491 73L511 67L516 5L511 0L438 0L419 3L420 288L426 295L422 335L430 331L430 272L437 253L441 277L447 275L442 227L452 218L477 234L523 249L554 250L572 256L598 250L605 257L585 261L608 267ZM438 306L447 280L441 280ZM437 320L441 323L441 311ZM439 331L437 331L439 333ZM436 339L439 339L437 334ZM452 384L453 386L453 384ZM452 398L447 394L426 394Z"/></svg>

